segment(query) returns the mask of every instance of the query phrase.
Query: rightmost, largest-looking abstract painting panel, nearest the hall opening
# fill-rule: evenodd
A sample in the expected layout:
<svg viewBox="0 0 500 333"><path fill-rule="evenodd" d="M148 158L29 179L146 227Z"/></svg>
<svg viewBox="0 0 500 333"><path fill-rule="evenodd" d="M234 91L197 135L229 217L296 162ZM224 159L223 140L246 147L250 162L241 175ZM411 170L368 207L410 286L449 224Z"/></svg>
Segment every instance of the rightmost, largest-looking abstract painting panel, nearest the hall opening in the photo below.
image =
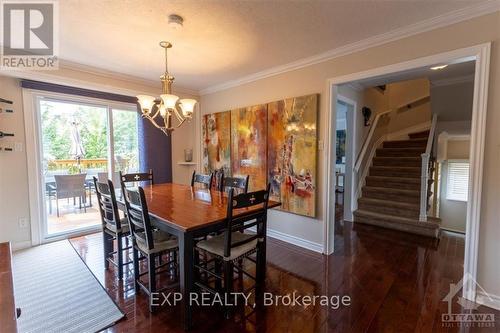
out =
<svg viewBox="0 0 500 333"><path fill-rule="evenodd" d="M268 104L268 179L281 210L316 215L318 95ZM234 163L234 162L233 162Z"/></svg>

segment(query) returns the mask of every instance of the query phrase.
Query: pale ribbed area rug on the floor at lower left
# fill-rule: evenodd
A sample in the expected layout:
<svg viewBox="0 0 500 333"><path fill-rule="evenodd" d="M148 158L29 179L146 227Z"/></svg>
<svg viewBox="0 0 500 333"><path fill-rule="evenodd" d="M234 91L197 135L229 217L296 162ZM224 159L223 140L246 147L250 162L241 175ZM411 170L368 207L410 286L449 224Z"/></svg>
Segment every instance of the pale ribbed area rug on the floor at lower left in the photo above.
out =
<svg viewBox="0 0 500 333"><path fill-rule="evenodd" d="M18 332L99 332L123 318L67 241L13 255Z"/></svg>

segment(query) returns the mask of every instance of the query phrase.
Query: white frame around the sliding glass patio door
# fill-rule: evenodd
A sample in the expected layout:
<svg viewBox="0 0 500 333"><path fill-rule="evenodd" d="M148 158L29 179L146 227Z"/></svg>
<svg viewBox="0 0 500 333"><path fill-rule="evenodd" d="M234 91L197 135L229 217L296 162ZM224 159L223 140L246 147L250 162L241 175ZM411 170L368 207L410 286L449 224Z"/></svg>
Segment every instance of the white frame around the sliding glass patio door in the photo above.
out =
<svg viewBox="0 0 500 333"><path fill-rule="evenodd" d="M113 140L113 109L122 111L130 110L137 112L137 108L130 103L113 102L109 100L83 97L77 95L67 95L46 91L23 89L24 122L26 130L26 154L28 156L28 183L31 215L31 243L37 245L66 239L70 237L82 236L97 232L101 225L82 228L72 232L48 234L47 214L45 202L45 184L42 177L42 133L40 122L40 100L52 100L56 102L77 103L90 106L98 106L106 109L108 122L108 173L115 169L114 140ZM30 158L31 157L31 158Z"/></svg>

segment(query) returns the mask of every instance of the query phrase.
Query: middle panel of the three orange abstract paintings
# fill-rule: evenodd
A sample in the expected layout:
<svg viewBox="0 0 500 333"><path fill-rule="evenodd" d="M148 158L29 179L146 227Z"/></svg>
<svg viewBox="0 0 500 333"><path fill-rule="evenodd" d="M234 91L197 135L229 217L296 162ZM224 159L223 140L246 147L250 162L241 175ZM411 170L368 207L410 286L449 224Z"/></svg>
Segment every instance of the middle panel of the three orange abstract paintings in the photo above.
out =
<svg viewBox="0 0 500 333"><path fill-rule="evenodd" d="M249 191L267 186L267 105L231 110L231 171L250 176Z"/></svg>

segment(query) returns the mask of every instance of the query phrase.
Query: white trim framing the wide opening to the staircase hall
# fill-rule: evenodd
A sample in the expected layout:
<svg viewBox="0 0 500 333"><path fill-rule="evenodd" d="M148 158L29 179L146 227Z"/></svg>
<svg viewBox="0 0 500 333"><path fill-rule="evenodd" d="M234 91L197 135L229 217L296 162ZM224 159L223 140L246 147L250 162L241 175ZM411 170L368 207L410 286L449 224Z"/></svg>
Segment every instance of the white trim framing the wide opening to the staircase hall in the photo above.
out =
<svg viewBox="0 0 500 333"><path fill-rule="evenodd" d="M469 158L469 188L467 202L466 237L465 237L465 260L464 275L471 277L470 281L464 283L463 296L466 299L476 300L476 286L471 282L477 278L478 262L478 237L480 223L481 191L482 191L482 170L484 156L484 138L486 127L486 103L489 76L489 58L491 44L481 44L467 47L441 54L427 56L403 63L379 67L364 72L358 72L345 76L339 76L328 80L328 94L330 101L328 135L334 137L333 129L336 128L336 101L339 86L347 83L356 83L359 80L377 79L386 75L395 75L405 71L419 68L430 68L436 64L452 64L463 61L474 61L474 95L471 124L471 142ZM327 166L330 164L330 157L335 156L335 146L327 147ZM335 219L332 205L329 205L331 198L335 195L335 174L333 168L327 168L326 174L326 207L324 208L325 221L325 253L333 253L333 243L335 239Z"/></svg>

